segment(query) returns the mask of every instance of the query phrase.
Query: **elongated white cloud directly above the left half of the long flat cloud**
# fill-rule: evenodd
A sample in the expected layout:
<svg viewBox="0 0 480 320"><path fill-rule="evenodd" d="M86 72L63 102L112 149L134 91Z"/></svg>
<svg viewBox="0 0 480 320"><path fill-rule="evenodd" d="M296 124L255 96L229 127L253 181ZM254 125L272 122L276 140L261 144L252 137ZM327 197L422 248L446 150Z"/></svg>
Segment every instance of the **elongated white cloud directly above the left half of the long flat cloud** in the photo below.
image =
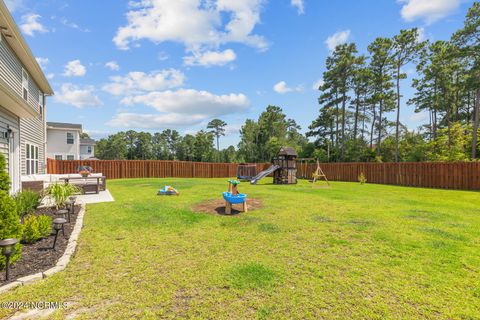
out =
<svg viewBox="0 0 480 320"><path fill-rule="evenodd" d="M103 90L113 95L140 94L145 91L172 89L183 85L185 75L176 69L145 72L130 72L126 76L110 77Z"/></svg>

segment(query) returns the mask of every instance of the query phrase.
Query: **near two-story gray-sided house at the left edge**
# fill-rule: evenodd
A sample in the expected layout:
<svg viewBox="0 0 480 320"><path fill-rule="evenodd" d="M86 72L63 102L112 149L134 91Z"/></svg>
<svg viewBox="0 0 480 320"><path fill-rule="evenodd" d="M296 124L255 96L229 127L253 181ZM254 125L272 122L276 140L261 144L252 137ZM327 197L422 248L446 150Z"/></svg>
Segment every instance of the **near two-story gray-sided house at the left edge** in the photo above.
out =
<svg viewBox="0 0 480 320"><path fill-rule="evenodd" d="M0 0L0 153L7 160L11 191L21 176L45 173L45 97L52 95L3 0Z"/></svg>

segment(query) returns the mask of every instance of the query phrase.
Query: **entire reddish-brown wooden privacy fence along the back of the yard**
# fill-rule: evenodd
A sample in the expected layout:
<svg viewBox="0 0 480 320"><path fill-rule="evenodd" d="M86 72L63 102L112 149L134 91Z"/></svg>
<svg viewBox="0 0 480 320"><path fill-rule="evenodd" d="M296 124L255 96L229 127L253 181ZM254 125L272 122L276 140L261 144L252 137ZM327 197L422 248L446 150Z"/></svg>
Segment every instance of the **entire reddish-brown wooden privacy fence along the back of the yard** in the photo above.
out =
<svg viewBox="0 0 480 320"><path fill-rule="evenodd" d="M108 179L121 178L227 178L237 174L236 163L204 163L162 160L53 160L48 173L77 172L90 166ZM269 163L256 164L257 173ZM368 183L400 186L480 190L480 162L322 163L332 181L358 181L364 173ZM311 177L317 165L298 165L298 176Z"/></svg>

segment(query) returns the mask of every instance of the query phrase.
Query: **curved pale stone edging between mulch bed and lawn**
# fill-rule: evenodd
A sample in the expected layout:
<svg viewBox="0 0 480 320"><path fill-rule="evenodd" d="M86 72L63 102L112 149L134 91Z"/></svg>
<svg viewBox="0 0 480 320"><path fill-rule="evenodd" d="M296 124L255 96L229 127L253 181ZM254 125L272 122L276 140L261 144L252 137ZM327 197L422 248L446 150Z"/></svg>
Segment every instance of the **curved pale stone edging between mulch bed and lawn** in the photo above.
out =
<svg viewBox="0 0 480 320"><path fill-rule="evenodd" d="M10 289L13 289L19 286L25 286L25 285L37 282L47 277L51 277L55 273L64 270L67 267L68 263L70 262L70 259L75 253L75 250L77 248L77 240L78 240L78 237L80 236L80 231L82 230L82 227L83 227L83 217L85 215L85 211L86 211L86 205L82 203L80 211L78 212L78 215L77 215L77 220L75 221L75 227L73 227L72 233L70 234L70 238L68 239L67 248L65 249L65 252L60 257L60 259L58 259L54 267L42 272L37 272L29 276L18 278L17 280L9 284L1 286L0 293L6 292Z"/></svg>

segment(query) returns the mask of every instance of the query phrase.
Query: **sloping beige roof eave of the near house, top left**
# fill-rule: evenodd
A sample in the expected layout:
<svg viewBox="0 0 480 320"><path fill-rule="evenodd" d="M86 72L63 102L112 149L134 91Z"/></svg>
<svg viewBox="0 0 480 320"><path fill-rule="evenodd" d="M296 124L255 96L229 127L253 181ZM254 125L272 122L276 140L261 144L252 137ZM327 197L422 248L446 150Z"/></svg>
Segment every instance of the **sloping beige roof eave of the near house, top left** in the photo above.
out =
<svg viewBox="0 0 480 320"><path fill-rule="evenodd" d="M53 95L52 87L48 83L42 68L40 68L20 30L18 30L17 24L13 20L3 0L0 0L0 32L10 47L15 51L18 59L35 80L40 90L46 95Z"/></svg>

